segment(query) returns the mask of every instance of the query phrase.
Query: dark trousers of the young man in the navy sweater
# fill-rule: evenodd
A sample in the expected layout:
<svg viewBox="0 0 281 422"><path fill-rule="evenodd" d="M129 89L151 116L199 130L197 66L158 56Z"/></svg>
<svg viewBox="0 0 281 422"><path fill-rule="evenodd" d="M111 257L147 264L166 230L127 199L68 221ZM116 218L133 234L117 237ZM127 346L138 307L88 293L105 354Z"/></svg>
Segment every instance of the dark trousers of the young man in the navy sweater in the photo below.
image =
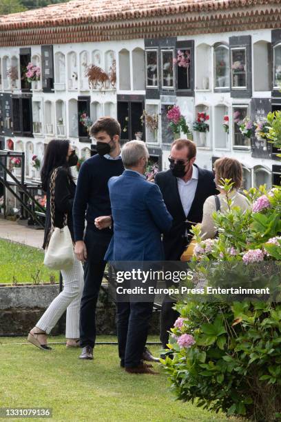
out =
<svg viewBox="0 0 281 422"><path fill-rule="evenodd" d="M103 260L112 234L86 229L85 245L87 261L84 264L84 289L80 308L80 343L81 347L90 345L94 348L96 340L96 303L103 281L106 262Z"/></svg>

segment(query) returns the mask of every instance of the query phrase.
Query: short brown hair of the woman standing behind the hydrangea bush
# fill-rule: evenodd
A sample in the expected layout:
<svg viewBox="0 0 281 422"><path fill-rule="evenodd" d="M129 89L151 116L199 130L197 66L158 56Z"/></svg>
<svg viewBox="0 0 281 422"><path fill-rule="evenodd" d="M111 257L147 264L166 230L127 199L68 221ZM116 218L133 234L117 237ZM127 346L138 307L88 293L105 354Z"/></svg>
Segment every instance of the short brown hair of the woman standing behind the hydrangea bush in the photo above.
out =
<svg viewBox="0 0 281 422"><path fill-rule="evenodd" d="M238 160L228 157L217 159L214 162L214 170L216 173L217 183L220 182L220 179L231 179L231 182L233 182L233 188L241 188L243 181L243 169L242 164Z"/></svg>

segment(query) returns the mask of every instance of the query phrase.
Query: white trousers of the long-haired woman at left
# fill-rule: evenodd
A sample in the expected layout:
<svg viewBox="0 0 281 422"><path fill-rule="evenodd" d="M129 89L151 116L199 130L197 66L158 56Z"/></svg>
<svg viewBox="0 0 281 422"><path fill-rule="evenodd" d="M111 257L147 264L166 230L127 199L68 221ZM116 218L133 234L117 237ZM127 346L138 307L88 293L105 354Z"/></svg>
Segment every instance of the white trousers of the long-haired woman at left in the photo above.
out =
<svg viewBox="0 0 281 422"><path fill-rule="evenodd" d="M66 310L67 339L79 339L80 302L84 285L84 272L81 261L74 258L70 270L61 271L63 276L63 291L52 301L49 308L39 319L36 326L49 334Z"/></svg>

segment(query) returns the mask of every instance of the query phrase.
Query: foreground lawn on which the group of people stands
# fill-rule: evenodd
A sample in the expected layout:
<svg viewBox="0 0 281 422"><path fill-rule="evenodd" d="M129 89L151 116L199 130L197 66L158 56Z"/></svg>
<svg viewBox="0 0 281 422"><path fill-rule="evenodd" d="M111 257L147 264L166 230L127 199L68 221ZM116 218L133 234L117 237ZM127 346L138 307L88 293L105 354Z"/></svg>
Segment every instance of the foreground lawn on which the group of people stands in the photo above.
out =
<svg viewBox="0 0 281 422"><path fill-rule="evenodd" d="M116 337L97 338L112 340ZM17 343L25 343L25 338L0 338L1 408L52 408L53 421L229 421L223 414L175 401L161 369L158 376L127 374L119 367L116 345L96 345L94 361L80 361L79 349L54 345L51 352L44 352ZM159 347L149 346L156 355ZM158 364L154 367L158 370Z"/></svg>

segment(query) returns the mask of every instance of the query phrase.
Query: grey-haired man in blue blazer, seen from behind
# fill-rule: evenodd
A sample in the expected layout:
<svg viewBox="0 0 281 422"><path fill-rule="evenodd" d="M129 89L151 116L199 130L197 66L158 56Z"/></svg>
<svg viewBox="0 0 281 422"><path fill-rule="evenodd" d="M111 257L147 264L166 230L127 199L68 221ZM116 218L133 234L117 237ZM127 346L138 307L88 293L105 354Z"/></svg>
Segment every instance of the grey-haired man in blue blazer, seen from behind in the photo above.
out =
<svg viewBox="0 0 281 422"><path fill-rule="evenodd" d="M158 185L144 173L149 153L143 141L127 142L122 150L125 171L108 182L114 235L107 261L163 261L161 233L171 228ZM121 366L130 373L155 374L141 357L147 340L153 303L118 302L117 334Z"/></svg>

